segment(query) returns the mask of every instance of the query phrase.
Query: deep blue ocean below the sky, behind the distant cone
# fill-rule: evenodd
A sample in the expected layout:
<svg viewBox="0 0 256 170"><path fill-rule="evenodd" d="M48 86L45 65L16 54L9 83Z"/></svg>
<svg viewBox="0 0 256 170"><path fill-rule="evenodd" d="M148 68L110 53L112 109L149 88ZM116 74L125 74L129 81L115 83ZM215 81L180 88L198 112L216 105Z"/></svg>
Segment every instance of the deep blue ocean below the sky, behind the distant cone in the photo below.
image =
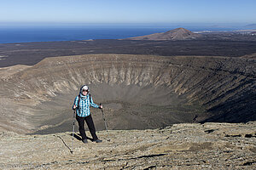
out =
<svg viewBox="0 0 256 170"><path fill-rule="evenodd" d="M0 43L122 39L170 31L181 26L27 26L0 25ZM190 31L231 31L234 28L184 27Z"/></svg>

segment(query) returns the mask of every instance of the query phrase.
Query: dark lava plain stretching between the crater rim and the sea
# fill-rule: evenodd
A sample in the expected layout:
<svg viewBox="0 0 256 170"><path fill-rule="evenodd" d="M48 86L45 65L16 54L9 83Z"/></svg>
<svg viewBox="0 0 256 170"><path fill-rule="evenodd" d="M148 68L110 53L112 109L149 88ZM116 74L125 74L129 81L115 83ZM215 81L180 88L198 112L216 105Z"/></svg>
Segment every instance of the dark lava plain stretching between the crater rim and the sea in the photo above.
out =
<svg viewBox="0 0 256 170"><path fill-rule="evenodd" d="M256 37L254 38L256 39ZM0 67L35 65L48 57L78 54L154 54L162 56L201 55L239 57L256 53L256 40L242 38L178 41L84 40L63 42L22 42L0 44Z"/></svg>

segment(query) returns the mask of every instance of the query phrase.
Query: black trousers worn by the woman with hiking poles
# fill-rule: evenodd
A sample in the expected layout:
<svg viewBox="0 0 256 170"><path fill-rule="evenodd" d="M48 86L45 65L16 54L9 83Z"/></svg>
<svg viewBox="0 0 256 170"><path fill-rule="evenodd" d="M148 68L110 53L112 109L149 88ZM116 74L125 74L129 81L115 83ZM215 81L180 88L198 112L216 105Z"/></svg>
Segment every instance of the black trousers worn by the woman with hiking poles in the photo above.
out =
<svg viewBox="0 0 256 170"><path fill-rule="evenodd" d="M85 130L84 130L84 121L86 122L87 126L89 127L92 139L93 140L98 139L98 137L96 136L96 129L95 129L91 115L85 116L85 117L81 117L81 116L77 115L76 118L77 118L77 121L79 122L79 133L81 134L83 140L87 139Z"/></svg>

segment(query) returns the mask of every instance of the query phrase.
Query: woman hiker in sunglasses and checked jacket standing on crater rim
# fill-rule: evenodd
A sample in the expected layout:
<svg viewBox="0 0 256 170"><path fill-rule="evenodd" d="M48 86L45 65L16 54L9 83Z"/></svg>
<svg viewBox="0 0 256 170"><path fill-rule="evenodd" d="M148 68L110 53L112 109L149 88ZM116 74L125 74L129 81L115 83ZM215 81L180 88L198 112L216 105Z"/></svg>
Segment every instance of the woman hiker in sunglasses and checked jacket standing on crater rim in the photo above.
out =
<svg viewBox="0 0 256 170"><path fill-rule="evenodd" d="M80 93L75 98L73 103L73 110L76 110L77 112L76 119L79 122L79 133L82 136L82 141L84 142L84 144L88 143L84 130L84 121L89 127L92 141L96 143L102 142L102 140L98 139L98 137L96 136L96 129L90 115L90 106L102 109L102 105L96 105L95 103L93 103L93 100L91 99L89 94L89 88L88 86L84 85L82 86L82 88L80 88Z"/></svg>

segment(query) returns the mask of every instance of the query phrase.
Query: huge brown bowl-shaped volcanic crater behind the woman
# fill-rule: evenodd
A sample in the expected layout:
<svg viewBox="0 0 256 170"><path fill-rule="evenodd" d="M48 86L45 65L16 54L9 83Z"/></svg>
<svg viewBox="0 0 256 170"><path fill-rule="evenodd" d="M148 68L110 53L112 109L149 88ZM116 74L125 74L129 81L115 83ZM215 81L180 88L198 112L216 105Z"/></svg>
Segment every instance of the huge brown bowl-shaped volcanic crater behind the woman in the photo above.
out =
<svg viewBox="0 0 256 170"><path fill-rule="evenodd" d="M255 59L84 54L1 74L1 128L19 133L71 131L73 99L83 84L103 104L109 129L256 120ZM101 114L92 109L97 130L105 129Z"/></svg>

